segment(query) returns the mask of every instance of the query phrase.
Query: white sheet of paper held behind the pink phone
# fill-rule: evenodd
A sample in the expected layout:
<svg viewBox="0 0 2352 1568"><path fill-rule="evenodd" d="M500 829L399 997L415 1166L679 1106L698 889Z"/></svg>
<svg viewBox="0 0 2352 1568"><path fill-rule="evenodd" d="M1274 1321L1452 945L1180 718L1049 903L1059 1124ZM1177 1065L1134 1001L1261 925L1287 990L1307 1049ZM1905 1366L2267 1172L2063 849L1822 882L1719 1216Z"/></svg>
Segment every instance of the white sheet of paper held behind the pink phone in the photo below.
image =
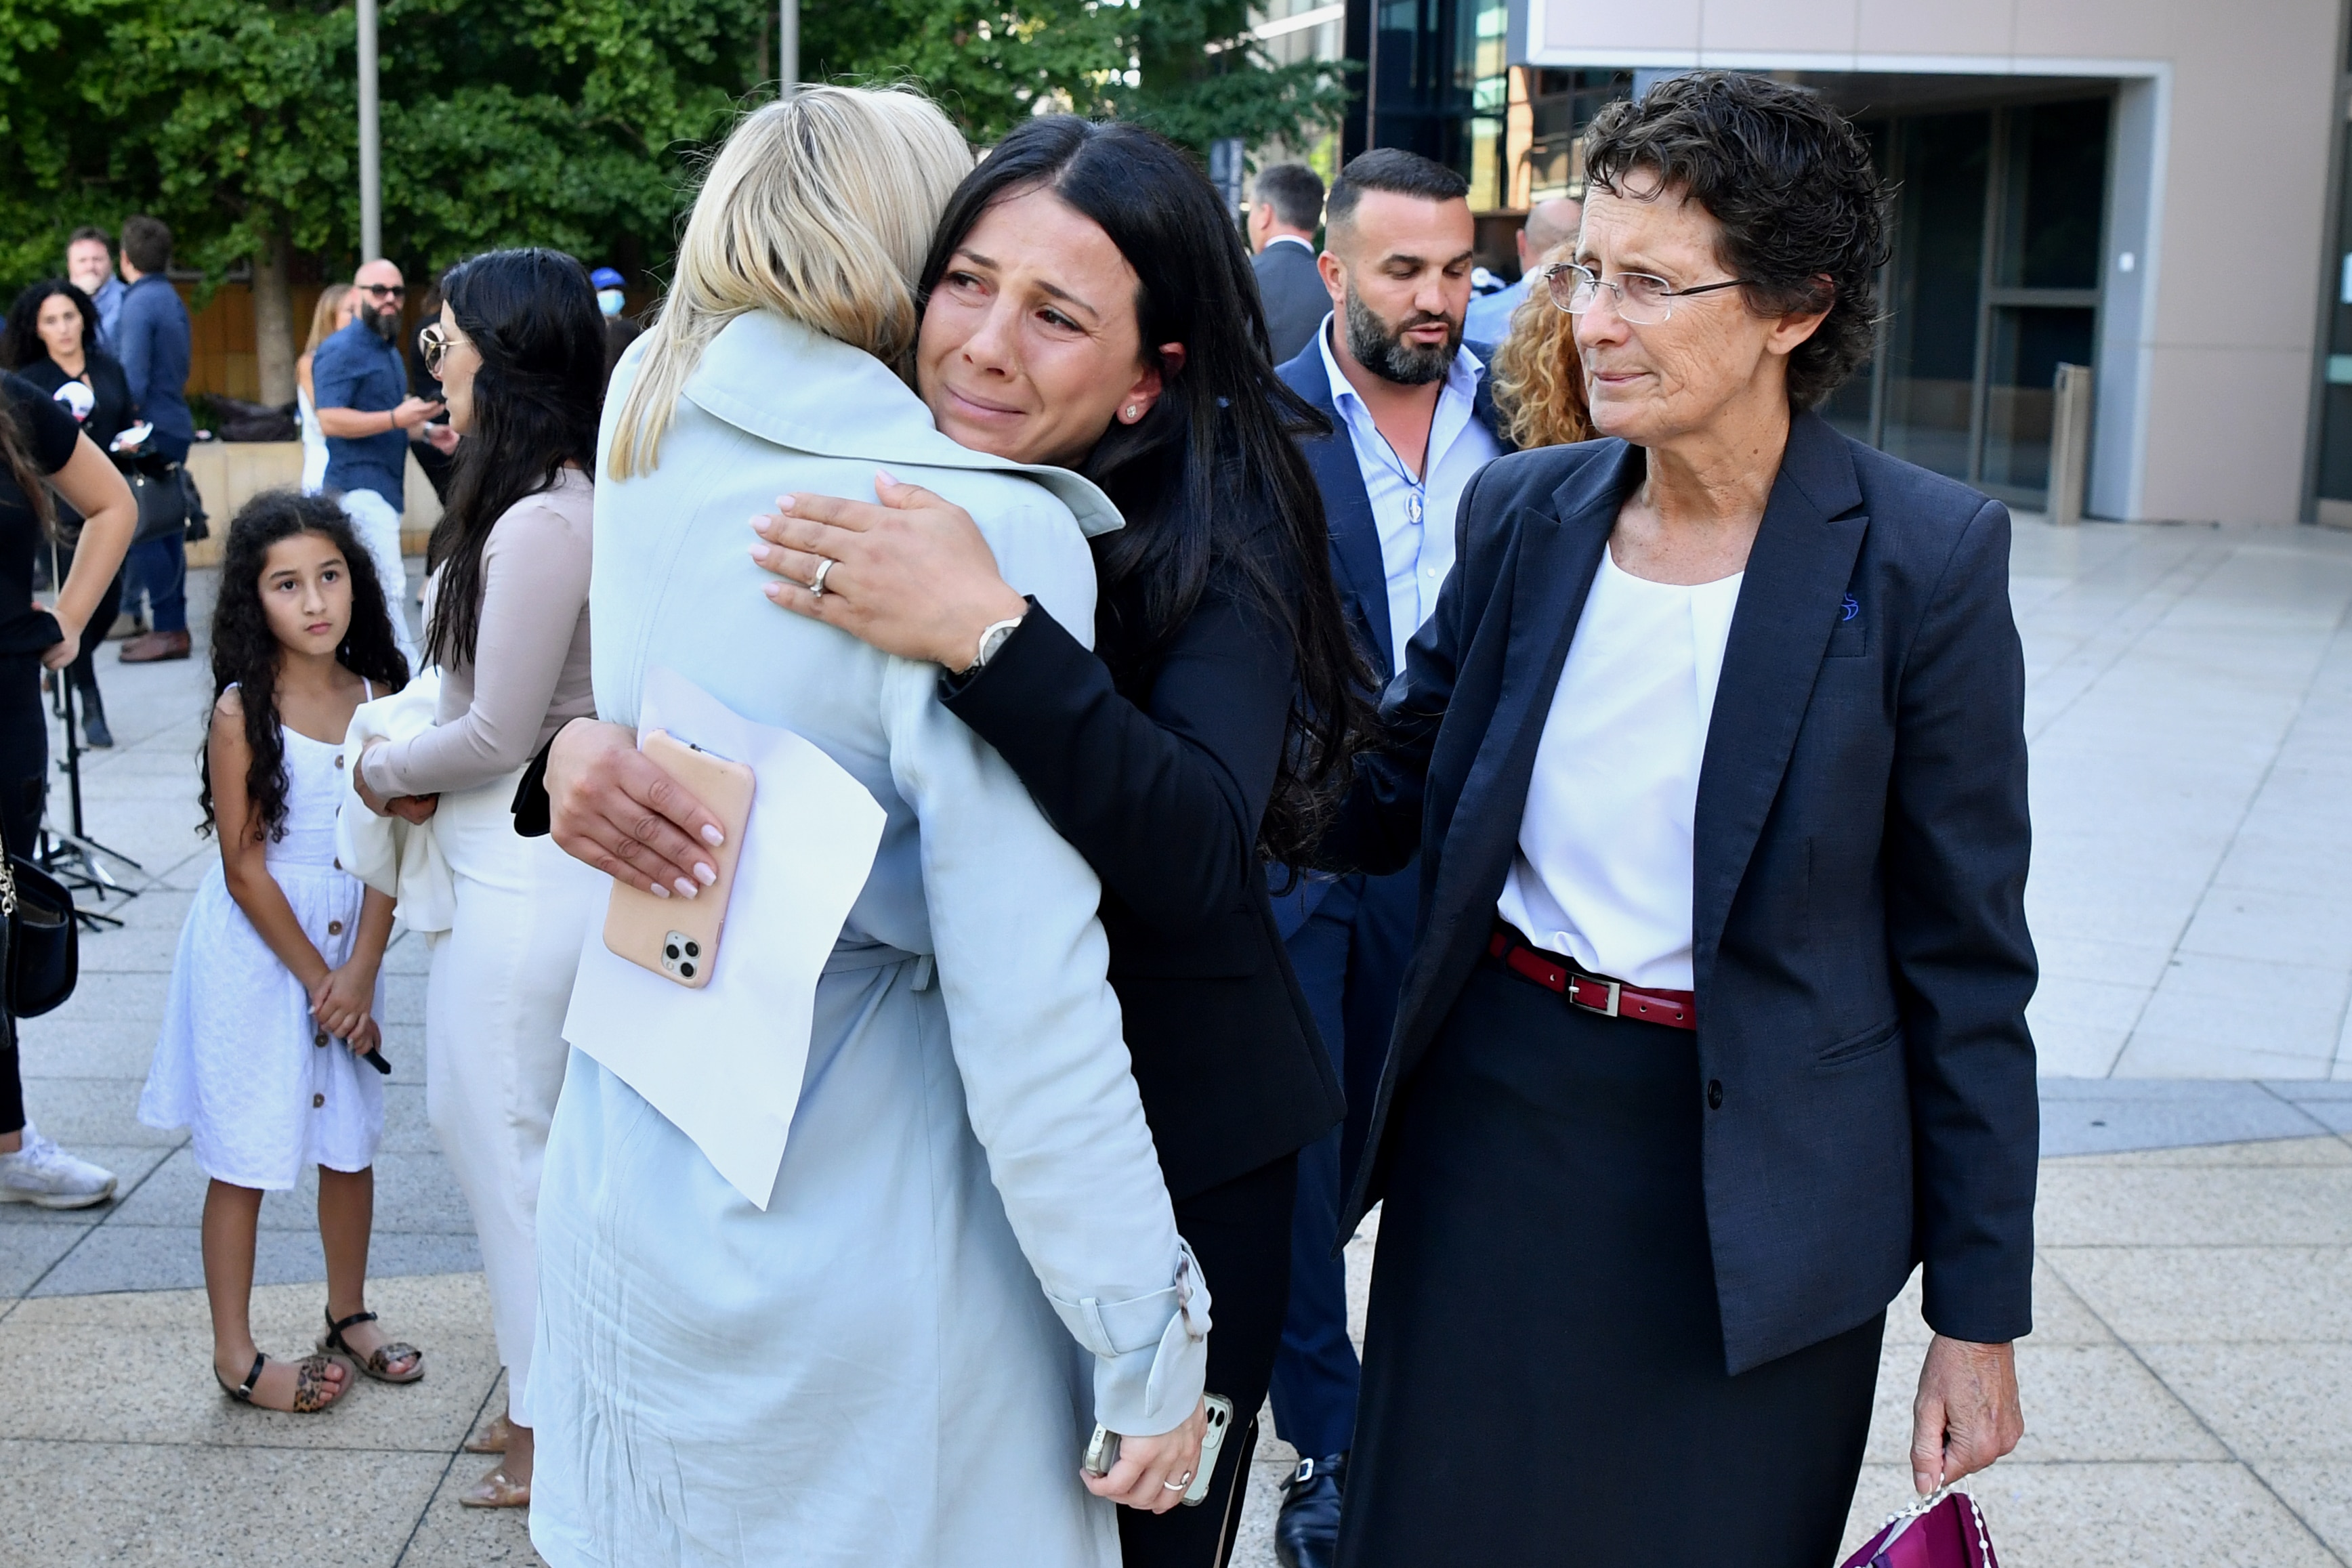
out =
<svg viewBox="0 0 2352 1568"><path fill-rule="evenodd" d="M753 771L717 966L687 990L607 950L595 919L564 1039L644 1095L764 1211L809 1065L816 978L866 886L887 813L816 745L746 719L673 670L644 675L637 733L656 729Z"/></svg>

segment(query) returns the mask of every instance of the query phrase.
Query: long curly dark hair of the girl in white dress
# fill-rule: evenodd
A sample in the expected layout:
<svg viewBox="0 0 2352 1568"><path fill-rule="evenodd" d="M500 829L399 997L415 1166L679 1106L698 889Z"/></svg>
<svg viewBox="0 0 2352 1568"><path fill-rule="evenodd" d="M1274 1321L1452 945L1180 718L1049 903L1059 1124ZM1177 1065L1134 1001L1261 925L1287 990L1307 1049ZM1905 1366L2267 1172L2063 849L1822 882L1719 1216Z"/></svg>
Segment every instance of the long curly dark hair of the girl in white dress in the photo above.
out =
<svg viewBox="0 0 2352 1568"><path fill-rule="evenodd" d="M299 496L289 489L268 489L238 508L228 524L228 543L221 550L221 597L212 607L212 701L235 686L245 701L245 748L252 764L245 769L245 795L254 802L254 813L270 842L287 835L287 748L278 733L278 635L261 609L261 567L270 545L296 534L318 534L343 552L350 569L350 628L343 646L334 651L339 665L376 682L386 691L409 684L409 661L393 642L393 616L383 604L383 578L376 576L376 559L360 545L358 534L343 517L343 508L327 496ZM198 776L202 790L198 804L205 823L198 832L214 832L212 813L212 752L198 750Z"/></svg>

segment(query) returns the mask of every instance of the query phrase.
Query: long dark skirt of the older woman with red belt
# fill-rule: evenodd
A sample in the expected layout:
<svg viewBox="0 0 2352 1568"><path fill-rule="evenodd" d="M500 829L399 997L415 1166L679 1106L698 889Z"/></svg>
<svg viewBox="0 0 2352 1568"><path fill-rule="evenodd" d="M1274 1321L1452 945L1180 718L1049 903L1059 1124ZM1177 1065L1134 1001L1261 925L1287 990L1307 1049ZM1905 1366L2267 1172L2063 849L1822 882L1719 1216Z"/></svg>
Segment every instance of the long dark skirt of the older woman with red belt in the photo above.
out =
<svg viewBox="0 0 2352 1568"><path fill-rule="evenodd" d="M1482 961L1397 1095L1343 1568L1825 1568L1886 1314L1724 1373L1693 1037Z"/></svg>

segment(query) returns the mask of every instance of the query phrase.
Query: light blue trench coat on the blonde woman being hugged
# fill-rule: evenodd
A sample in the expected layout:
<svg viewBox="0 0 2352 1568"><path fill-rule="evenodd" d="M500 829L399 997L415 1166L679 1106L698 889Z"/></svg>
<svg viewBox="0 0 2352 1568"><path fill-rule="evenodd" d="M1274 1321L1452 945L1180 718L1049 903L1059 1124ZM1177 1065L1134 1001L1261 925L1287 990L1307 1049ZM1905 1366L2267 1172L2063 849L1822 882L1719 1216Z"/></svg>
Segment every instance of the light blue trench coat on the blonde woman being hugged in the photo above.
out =
<svg viewBox="0 0 2352 1568"><path fill-rule="evenodd" d="M938 705L934 665L760 592L750 517L783 491L873 496L877 465L1094 625L1084 534L1117 512L1091 484L957 447L884 364L776 315L720 331L656 473L597 484L597 710L633 724L668 665L821 745L889 825L818 983L767 1213L572 1056L524 1413L555 1568L1112 1568L1084 1436L1164 1432L1202 1389L1207 1291L1103 980L1094 872Z"/></svg>

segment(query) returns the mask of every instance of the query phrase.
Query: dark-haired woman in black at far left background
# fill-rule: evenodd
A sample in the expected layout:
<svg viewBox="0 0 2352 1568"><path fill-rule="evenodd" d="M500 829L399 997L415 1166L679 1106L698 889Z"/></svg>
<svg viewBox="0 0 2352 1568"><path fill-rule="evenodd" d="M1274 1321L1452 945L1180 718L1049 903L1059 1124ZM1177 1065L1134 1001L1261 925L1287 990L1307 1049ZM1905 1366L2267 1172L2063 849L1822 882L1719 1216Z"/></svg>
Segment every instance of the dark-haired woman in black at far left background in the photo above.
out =
<svg viewBox="0 0 2352 1568"><path fill-rule="evenodd" d="M129 376L122 362L99 348L99 308L87 294L64 277L35 282L16 296L7 315L7 336L0 343L0 364L16 371L59 402L78 421L89 444L129 473L134 456L115 451L115 437L139 418L132 402ZM56 515L56 567L59 581L73 576L73 548L82 531L82 517L71 505ZM82 651L68 665L68 679L80 693L82 741L94 748L111 748L113 731L106 726L106 701L99 696L99 644L122 609L122 574L115 571L106 595L92 611L89 623L96 637L82 637Z"/></svg>

